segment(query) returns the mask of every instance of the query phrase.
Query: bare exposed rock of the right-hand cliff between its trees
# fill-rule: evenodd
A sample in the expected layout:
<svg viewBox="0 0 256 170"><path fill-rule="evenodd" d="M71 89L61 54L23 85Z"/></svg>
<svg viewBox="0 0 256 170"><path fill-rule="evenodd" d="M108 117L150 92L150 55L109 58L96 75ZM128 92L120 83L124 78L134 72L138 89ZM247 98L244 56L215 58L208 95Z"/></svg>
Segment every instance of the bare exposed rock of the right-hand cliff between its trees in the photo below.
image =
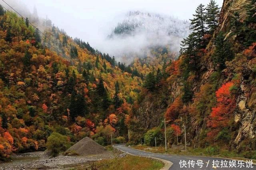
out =
<svg viewBox="0 0 256 170"><path fill-rule="evenodd" d="M188 145L198 147L200 146L200 141L206 138L206 131L208 129L207 119L209 119L211 108L208 109L208 113L200 114L199 117L192 114L193 106L197 107L195 95L198 96L201 93L201 89L205 88L212 81L216 82L218 88L231 81L235 76L238 76L239 86L236 91L236 107L234 111L230 114L229 131L231 134L230 147L242 147L246 142L250 140L255 140L256 137L256 88L255 88L255 63L256 63L256 45L250 47L250 54L243 48L241 41L238 41L238 36L235 33L234 27L232 27L232 18L235 14L239 14L239 20L241 23L246 18L246 5L250 3L250 0L224 0L222 10L220 13L219 26L214 32L212 39L206 47L206 53L200 59L200 70L198 71L198 77L192 77L190 80L192 86L191 90L194 94L193 100L190 104L184 104L182 111L179 116L187 117L189 124L187 130ZM215 49L214 39L220 31L225 32L226 39L229 39L233 45L233 51L235 52L234 60L226 63L226 68L220 72L218 76L214 77L216 74L216 68L212 62L212 54ZM182 60L182 57L179 59ZM175 61L174 61L175 62ZM176 61L178 63L178 61ZM175 65L175 64L174 64ZM180 74L180 73L179 73ZM213 80L214 79L214 80ZM176 76L172 78L167 78L169 84L166 95L168 99L166 100L169 106L172 102L182 96L182 88L184 84L182 83L182 77ZM216 91L216 90L215 90ZM215 91L212 94L215 96ZM158 90L157 93L162 92ZM147 96L148 97L148 96ZM151 123L142 124L145 128L152 128L160 123L163 119L163 115L166 112L166 107L159 104L160 100L157 99L156 94L151 96L151 99L158 100L158 104L154 105L148 98L144 98L142 104L140 105L140 116L137 118L139 121L150 121ZM216 99L215 99L216 100ZM151 102L150 102L151 101ZM148 103L148 104L146 104ZM205 105L208 105L207 101ZM161 107L156 107L161 106ZM214 105L213 105L214 106ZM165 108L164 108L165 107ZM210 111L209 111L210 110ZM152 115L154 115L152 117ZM145 117L151 117L150 119L145 119ZM182 140L182 139L181 139ZM249 142L250 143L250 142ZM246 144L245 144L246 145Z"/></svg>

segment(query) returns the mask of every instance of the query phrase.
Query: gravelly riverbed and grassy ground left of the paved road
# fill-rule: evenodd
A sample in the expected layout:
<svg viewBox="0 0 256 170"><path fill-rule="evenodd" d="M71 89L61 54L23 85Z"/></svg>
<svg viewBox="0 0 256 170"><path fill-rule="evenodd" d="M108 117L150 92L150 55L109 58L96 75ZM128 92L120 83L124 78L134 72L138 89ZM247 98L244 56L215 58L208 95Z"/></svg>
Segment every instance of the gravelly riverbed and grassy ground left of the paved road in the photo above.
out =
<svg viewBox="0 0 256 170"><path fill-rule="evenodd" d="M108 147L109 148L109 147ZM48 158L45 152L28 152L13 156L12 161L0 163L0 170L159 170L159 160L132 156L126 153L64 156Z"/></svg>

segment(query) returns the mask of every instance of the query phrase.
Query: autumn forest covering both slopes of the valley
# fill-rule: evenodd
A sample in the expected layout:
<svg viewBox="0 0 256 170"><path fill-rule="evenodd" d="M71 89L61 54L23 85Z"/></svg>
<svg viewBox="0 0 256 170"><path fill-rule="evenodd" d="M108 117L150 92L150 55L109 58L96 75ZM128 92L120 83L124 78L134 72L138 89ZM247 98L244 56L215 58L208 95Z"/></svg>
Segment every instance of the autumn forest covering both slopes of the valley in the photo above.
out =
<svg viewBox="0 0 256 170"><path fill-rule="evenodd" d="M164 145L164 120L168 147L186 125L188 146L256 158L255 0L200 4L176 60L159 47L127 65L44 24L0 6L1 159L84 137Z"/></svg>

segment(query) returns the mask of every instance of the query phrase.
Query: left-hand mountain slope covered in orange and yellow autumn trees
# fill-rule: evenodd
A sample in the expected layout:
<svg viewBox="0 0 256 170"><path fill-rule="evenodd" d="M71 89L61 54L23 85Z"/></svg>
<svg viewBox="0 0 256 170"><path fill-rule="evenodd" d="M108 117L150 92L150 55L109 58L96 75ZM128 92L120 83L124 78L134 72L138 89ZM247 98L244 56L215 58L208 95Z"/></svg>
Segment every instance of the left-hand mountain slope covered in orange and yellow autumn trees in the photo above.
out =
<svg viewBox="0 0 256 170"><path fill-rule="evenodd" d="M69 143L124 141L150 65L125 66L48 19L43 34L29 22L0 8L0 157L44 150L52 132Z"/></svg>

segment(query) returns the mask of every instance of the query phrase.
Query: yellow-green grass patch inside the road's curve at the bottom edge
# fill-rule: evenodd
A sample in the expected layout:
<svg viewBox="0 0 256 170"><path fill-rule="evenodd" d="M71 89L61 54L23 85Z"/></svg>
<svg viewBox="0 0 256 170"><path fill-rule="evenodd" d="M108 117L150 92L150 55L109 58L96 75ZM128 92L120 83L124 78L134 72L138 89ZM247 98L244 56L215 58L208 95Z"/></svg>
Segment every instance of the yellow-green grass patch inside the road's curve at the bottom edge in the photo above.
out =
<svg viewBox="0 0 256 170"><path fill-rule="evenodd" d="M159 160L128 155L124 158L100 160L70 167L70 170L159 170L164 164Z"/></svg>

